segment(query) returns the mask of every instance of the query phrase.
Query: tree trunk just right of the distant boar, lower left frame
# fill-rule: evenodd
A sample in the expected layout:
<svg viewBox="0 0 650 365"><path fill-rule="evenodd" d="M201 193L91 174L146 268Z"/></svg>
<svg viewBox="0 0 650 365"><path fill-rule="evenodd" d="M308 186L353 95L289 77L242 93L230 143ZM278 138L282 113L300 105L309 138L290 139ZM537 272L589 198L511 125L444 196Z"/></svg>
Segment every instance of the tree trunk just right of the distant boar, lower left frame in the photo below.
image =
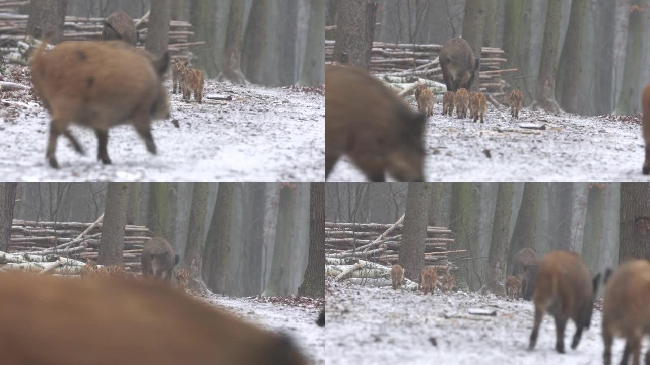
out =
<svg viewBox="0 0 650 365"><path fill-rule="evenodd" d="M187 245L185 245L185 257L183 258L183 268L190 272L189 288L200 293L207 292L203 278L201 278L201 255L205 244L203 232L205 232L209 193L210 184L194 183L190 223L187 229Z"/></svg>

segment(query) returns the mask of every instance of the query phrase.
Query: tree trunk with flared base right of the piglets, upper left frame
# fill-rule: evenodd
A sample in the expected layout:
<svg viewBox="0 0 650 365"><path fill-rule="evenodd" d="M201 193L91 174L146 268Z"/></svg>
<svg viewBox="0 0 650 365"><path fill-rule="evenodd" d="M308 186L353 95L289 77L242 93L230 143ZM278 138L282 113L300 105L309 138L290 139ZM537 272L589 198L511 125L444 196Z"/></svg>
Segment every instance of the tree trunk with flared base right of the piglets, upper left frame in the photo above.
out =
<svg viewBox="0 0 650 365"><path fill-rule="evenodd" d="M221 58L221 79L227 79L233 84L246 84L246 77L241 69L242 26L244 23L244 1L231 1L228 15L226 47Z"/></svg>

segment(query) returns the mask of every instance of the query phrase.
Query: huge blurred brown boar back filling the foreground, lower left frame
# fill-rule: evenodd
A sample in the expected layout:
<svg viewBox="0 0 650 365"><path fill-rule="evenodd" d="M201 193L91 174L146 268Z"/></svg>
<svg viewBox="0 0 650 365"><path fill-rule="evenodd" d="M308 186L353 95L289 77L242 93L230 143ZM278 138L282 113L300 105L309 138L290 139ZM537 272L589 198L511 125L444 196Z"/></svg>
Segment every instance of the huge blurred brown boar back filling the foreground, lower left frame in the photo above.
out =
<svg viewBox="0 0 650 365"><path fill-rule="evenodd" d="M0 292L3 364L307 364L288 336L157 283L7 273Z"/></svg>

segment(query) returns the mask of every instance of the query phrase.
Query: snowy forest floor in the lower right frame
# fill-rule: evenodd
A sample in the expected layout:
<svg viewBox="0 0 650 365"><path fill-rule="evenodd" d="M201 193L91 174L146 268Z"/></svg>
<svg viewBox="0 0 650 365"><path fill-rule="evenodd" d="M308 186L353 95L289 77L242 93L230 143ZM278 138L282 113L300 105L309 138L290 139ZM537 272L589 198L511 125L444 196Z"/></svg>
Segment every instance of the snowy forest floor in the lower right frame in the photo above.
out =
<svg viewBox="0 0 650 365"><path fill-rule="evenodd" d="M330 281L331 282L331 281ZM328 364L602 364L601 311L571 349L572 321L564 336L564 355L555 347L555 325L544 316L537 346L528 351L534 309L530 301L452 292L422 295L346 283L326 286L325 334ZM469 314L469 308L494 310L496 316ZM623 340L615 340L618 364ZM647 349L645 344L643 351Z"/></svg>

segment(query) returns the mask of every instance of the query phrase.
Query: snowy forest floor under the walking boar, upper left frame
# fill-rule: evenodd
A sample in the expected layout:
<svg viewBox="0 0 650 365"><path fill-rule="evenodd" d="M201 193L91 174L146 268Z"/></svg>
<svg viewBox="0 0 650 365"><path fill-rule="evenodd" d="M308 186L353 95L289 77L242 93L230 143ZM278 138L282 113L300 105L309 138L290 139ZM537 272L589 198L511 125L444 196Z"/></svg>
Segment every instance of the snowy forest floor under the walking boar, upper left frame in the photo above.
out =
<svg viewBox="0 0 650 365"><path fill-rule="evenodd" d="M0 81L31 86L29 68L8 66ZM72 127L81 156L60 138L60 170L49 167L49 114L30 90L0 93L0 177L3 181L323 181L325 97L319 88L265 88L205 81L203 104L170 92L170 120L153 123L158 155L146 151L131 125L110 129L113 164L96 160L94 132ZM207 100L206 95L232 101ZM178 127L175 127L177 121Z"/></svg>

